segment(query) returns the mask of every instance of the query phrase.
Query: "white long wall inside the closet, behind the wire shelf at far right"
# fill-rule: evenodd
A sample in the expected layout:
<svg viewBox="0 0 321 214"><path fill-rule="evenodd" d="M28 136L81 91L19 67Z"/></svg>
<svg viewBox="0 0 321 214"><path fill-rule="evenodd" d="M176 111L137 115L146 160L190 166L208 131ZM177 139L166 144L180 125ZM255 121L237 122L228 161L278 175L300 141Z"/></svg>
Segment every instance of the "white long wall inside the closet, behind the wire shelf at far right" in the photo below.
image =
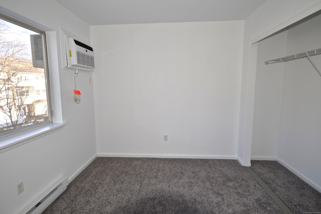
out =
<svg viewBox="0 0 321 214"><path fill-rule="evenodd" d="M287 33L286 55L321 48L321 15ZM321 55L311 57L321 70ZM309 61L285 63L277 158L321 190L321 77Z"/></svg>

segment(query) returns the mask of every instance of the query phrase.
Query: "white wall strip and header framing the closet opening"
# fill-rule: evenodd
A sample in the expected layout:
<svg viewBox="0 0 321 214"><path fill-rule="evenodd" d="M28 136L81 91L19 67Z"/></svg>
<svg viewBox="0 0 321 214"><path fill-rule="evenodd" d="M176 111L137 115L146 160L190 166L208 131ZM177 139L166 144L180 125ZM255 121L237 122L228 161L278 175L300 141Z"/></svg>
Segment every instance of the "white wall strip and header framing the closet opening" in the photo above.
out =
<svg viewBox="0 0 321 214"><path fill-rule="evenodd" d="M300 13L308 10L304 16L310 15L312 12L309 9L319 8L320 2L319 0L267 0L245 20L237 152L238 160L242 165L251 165L257 43L251 45L250 41L268 31L275 33L273 29L279 25L292 24L292 18Z"/></svg>

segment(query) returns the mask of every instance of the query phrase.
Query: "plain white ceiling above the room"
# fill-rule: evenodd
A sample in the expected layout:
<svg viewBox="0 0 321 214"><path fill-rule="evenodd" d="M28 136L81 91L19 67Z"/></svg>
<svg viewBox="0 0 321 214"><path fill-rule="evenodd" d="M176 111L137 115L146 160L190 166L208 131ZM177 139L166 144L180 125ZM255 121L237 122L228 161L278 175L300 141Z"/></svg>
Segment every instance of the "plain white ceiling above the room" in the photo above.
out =
<svg viewBox="0 0 321 214"><path fill-rule="evenodd" d="M245 20L266 0L56 0L89 25Z"/></svg>

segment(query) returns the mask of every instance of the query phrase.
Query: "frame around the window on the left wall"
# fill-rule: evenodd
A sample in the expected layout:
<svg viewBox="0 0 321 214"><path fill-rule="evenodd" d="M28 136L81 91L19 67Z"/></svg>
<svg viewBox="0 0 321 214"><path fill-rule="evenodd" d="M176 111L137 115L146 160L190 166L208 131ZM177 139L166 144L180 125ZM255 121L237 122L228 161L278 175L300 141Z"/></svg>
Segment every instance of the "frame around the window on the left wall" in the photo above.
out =
<svg viewBox="0 0 321 214"><path fill-rule="evenodd" d="M24 136L25 133L30 132L30 135L33 135L33 133L37 132L37 129L42 130L45 127L56 127L56 125L53 125L53 110L52 110L52 99L51 99L51 87L50 87L50 74L49 74L49 65L48 65L48 49L47 49L47 39L46 39L46 32L36 28L30 24L27 24L25 22L22 22L18 19L12 18L10 16L7 16L6 14L3 14L0 12L0 19L10 22L14 25L20 26L22 28L28 29L30 31L33 31L35 33L38 33L41 35L42 38L42 46L43 46L43 57L44 57L44 75L45 75L45 84L46 84L46 96L47 96L47 112L48 112L48 121L43 122L41 124L32 125L31 127L26 127L23 129L18 129L15 131L8 132L2 136L0 136L0 141L7 141L8 138L16 138L17 136ZM48 130L46 129L46 132ZM19 140L21 141L21 140ZM1 144L1 143L0 143ZM0 145L0 150L3 148L2 145ZM1 152L0 152L1 153Z"/></svg>

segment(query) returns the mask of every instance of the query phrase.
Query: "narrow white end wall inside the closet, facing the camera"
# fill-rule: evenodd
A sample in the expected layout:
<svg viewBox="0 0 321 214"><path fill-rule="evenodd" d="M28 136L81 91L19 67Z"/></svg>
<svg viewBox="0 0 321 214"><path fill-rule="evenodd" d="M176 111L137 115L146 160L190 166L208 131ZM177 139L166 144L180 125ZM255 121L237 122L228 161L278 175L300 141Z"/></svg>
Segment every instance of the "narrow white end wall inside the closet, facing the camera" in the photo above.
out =
<svg viewBox="0 0 321 214"><path fill-rule="evenodd" d="M286 38L287 31L258 44L252 159L276 159L285 64L264 62L286 56Z"/></svg>

